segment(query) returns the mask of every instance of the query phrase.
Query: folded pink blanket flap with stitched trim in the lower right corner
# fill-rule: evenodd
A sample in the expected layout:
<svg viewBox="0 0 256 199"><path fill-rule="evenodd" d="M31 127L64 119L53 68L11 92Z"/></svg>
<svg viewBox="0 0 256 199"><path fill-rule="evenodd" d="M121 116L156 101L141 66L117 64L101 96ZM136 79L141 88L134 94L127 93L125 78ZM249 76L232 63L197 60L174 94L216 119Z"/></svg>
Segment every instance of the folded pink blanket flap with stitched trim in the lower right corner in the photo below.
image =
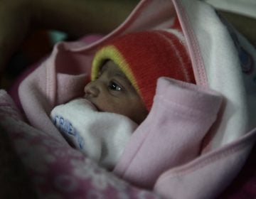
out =
<svg viewBox="0 0 256 199"><path fill-rule="evenodd" d="M256 129L239 141L163 173L155 184L164 198L209 198L226 188L245 163ZM181 186L182 182L182 186ZM213 188L215 187L215 188ZM212 198L212 197L210 197Z"/></svg>

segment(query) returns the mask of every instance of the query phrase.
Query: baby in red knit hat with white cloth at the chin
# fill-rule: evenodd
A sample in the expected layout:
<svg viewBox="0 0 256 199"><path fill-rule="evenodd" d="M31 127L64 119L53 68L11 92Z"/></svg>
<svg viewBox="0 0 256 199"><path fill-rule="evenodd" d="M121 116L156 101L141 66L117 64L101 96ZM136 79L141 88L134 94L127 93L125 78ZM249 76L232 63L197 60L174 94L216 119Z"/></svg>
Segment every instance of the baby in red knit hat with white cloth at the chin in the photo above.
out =
<svg viewBox="0 0 256 199"><path fill-rule="evenodd" d="M178 29L128 33L105 43L92 60L85 95L50 117L70 144L112 169L149 113L159 77L195 83Z"/></svg>

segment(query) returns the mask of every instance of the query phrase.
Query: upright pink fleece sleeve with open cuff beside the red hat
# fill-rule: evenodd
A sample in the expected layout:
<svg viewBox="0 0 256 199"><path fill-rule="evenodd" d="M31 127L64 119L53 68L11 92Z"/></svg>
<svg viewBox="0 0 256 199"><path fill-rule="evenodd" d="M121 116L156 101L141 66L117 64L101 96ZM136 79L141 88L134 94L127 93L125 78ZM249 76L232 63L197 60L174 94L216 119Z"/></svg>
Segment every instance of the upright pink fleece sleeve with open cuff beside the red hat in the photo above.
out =
<svg viewBox="0 0 256 199"><path fill-rule="evenodd" d="M206 88L160 78L149 116L132 134L114 172L139 187L153 188L168 168L200 155L221 99Z"/></svg>

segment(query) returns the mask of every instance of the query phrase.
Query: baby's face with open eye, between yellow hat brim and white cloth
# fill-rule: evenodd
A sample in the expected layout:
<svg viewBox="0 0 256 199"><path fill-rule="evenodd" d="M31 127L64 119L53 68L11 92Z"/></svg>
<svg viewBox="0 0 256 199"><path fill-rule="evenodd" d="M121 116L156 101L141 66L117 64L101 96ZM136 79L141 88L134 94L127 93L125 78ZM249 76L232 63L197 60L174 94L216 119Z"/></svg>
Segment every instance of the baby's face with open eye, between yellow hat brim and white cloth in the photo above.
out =
<svg viewBox="0 0 256 199"><path fill-rule="evenodd" d="M85 86L85 98L99 111L123 114L137 124L148 114L141 97L112 60L102 65L97 79Z"/></svg>

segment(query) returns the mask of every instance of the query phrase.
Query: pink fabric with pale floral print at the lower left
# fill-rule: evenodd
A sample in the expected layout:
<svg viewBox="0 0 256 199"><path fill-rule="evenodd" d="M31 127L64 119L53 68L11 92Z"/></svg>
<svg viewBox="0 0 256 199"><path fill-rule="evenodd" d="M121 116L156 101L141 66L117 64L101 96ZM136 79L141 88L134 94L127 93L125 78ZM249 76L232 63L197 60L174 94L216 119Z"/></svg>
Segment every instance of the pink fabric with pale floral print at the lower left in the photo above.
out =
<svg viewBox="0 0 256 199"><path fill-rule="evenodd" d="M100 168L54 132L48 135L28 125L4 90L0 90L0 126L11 137L38 198L159 198Z"/></svg>

